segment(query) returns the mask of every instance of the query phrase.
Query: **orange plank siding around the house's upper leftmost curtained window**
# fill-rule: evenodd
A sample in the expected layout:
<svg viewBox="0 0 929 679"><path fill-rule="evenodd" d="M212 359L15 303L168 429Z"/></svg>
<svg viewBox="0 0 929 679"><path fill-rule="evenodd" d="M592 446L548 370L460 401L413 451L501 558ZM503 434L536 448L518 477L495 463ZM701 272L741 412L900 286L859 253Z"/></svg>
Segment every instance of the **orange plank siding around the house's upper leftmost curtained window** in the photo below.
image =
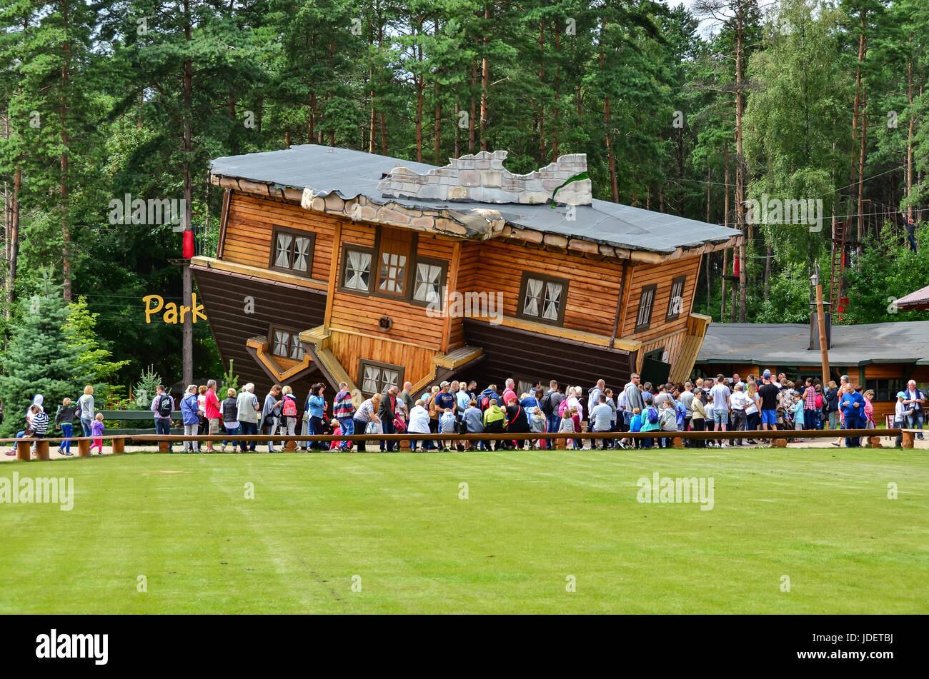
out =
<svg viewBox="0 0 929 679"><path fill-rule="evenodd" d="M286 226L316 235L312 277L329 280L335 224L334 217L308 212L299 205L233 193L229 203L223 260L267 268L272 228Z"/></svg>

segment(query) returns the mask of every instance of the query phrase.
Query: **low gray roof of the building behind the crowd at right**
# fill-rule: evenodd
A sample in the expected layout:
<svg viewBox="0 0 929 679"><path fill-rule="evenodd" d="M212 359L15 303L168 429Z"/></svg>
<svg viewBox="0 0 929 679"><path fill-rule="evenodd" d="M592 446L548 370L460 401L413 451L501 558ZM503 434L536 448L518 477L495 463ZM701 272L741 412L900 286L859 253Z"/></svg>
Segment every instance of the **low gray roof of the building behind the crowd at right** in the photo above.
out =
<svg viewBox="0 0 929 679"><path fill-rule="evenodd" d="M712 323L697 363L816 365L810 327L794 323ZM832 326L830 365L929 364L929 321Z"/></svg>

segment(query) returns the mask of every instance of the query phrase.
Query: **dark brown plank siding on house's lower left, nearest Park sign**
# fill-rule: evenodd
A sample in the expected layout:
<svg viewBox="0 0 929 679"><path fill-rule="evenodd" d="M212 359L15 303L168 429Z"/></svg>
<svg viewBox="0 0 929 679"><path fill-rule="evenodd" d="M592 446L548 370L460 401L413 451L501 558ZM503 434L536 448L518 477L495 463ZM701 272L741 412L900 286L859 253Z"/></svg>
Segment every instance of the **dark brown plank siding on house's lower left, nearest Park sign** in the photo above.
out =
<svg viewBox="0 0 929 679"><path fill-rule="evenodd" d="M233 359L232 369L239 375L240 386L255 382L255 393L263 399L270 389L271 379L245 349L245 341L256 335L267 335L271 323L300 330L321 325L326 296L235 275L197 269L193 275L224 366L228 367L229 359ZM243 313L246 296L255 298L255 314ZM312 383L320 379L316 373L287 382L297 392L301 407Z"/></svg>

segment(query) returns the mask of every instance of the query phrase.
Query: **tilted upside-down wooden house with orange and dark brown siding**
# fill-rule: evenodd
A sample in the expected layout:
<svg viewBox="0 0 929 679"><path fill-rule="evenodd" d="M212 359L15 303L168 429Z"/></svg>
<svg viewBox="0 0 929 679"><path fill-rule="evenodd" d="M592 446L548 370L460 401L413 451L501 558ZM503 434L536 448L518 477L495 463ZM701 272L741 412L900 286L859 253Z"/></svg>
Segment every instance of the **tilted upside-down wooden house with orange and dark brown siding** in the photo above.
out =
<svg viewBox="0 0 929 679"><path fill-rule="evenodd" d="M690 313L701 256L740 232L594 200L583 155L523 175L505 157L437 168L309 145L214 160L216 257L190 267L224 362L298 393L686 379L709 323Z"/></svg>

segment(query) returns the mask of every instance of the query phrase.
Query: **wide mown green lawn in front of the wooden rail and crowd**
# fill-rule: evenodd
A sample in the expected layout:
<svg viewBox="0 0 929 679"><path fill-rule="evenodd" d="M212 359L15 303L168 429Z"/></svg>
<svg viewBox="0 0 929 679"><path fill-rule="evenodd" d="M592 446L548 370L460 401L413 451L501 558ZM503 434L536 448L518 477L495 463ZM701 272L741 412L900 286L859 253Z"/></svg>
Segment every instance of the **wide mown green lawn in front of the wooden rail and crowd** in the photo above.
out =
<svg viewBox="0 0 929 679"><path fill-rule="evenodd" d="M922 451L136 454L0 477L14 471L72 477L74 505L0 504L0 613L929 612ZM713 477L713 509L638 502L656 471Z"/></svg>

